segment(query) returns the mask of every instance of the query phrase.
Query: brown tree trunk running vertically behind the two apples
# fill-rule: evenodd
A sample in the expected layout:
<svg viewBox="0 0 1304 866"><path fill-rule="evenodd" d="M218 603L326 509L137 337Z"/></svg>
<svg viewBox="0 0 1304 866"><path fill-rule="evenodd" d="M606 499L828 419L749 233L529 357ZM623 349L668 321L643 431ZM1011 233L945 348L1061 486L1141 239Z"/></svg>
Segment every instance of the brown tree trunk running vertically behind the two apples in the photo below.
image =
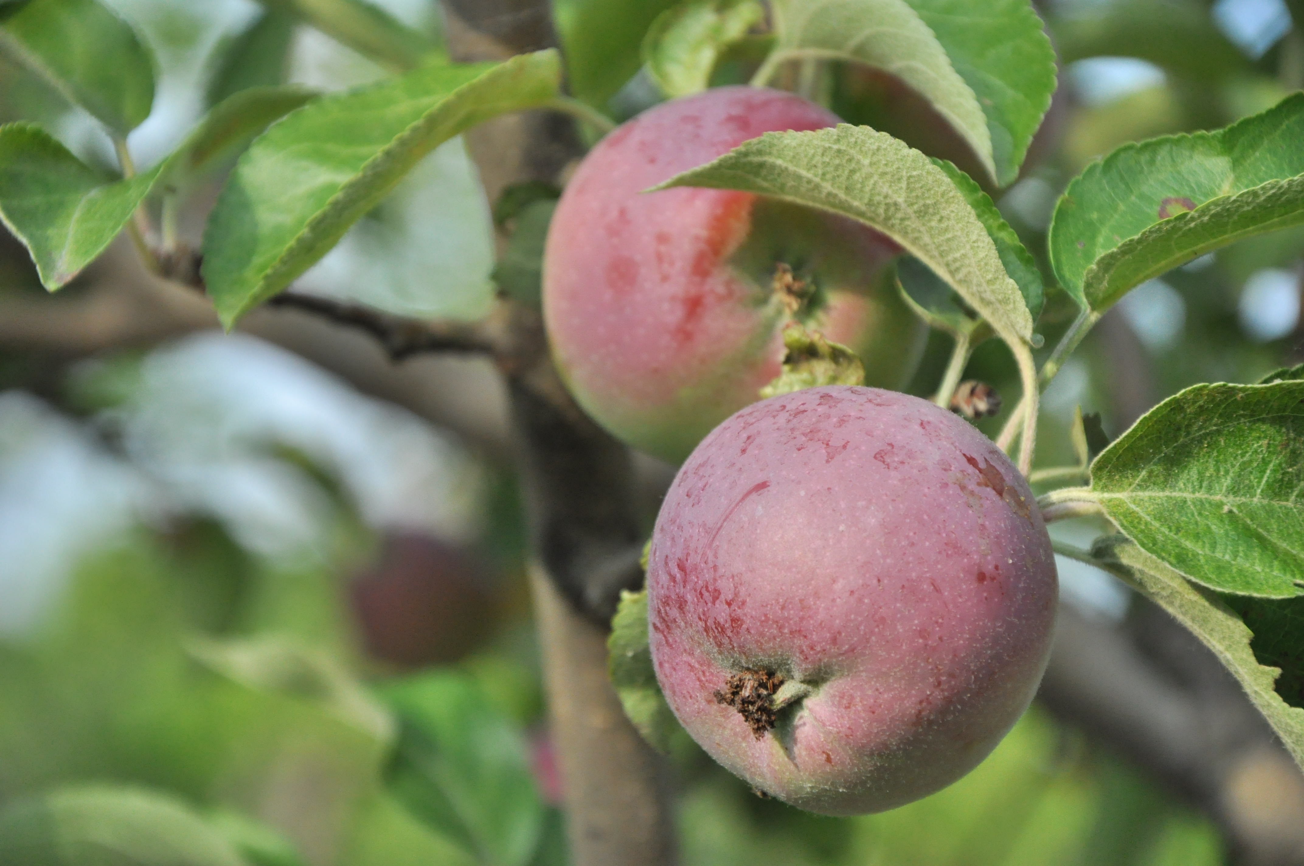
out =
<svg viewBox="0 0 1304 866"><path fill-rule="evenodd" d="M554 43L546 0L447 0L450 52L501 59ZM467 136L490 200L512 183L556 181L580 157L574 124L528 112ZM642 583L638 486L629 450L571 400L542 322L518 309L507 374L533 537L531 586L576 866L673 863L661 760L626 719L606 673L606 623Z"/></svg>

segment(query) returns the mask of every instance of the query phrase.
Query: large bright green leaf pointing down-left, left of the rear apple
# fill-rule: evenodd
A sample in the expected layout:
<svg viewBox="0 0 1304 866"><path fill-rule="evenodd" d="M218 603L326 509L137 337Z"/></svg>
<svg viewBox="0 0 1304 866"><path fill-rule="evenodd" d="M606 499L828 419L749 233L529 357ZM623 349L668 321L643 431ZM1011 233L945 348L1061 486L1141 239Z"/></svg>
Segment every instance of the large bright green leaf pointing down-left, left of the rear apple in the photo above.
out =
<svg viewBox="0 0 1304 866"><path fill-rule="evenodd" d="M203 279L227 327L326 254L437 146L558 93L556 51L430 67L323 97L244 153L203 235Z"/></svg>

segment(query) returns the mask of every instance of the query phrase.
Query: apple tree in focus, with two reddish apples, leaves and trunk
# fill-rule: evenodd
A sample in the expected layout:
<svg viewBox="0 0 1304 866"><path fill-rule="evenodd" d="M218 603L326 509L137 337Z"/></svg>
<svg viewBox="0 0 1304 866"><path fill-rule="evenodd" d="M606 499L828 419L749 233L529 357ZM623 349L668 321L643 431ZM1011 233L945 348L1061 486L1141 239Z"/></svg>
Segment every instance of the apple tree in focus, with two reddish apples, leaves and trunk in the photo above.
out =
<svg viewBox="0 0 1304 866"><path fill-rule="evenodd" d="M1038 447L1043 393L1129 293L1234 244L1297 241L1281 233L1304 224L1297 39L1271 99L1084 160L1030 232L1009 190L1064 136L1056 50L1102 53L1072 21L1052 42L1030 0L447 0L442 43L366 0L263 5L224 91L146 163L132 133L156 67L115 4L0 3L8 63L113 155L0 127L0 219L50 292L125 236L227 331L276 308L394 364L493 364L574 862L673 861L657 753L685 733L756 793L825 814L965 775L1046 670L1056 554L1180 623L1304 766L1304 370L1184 382L1112 441L1077 411L1069 456ZM291 27L383 74L330 93L259 77ZM1179 68L1163 48L1118 53ZM466 250L413 269L406 297L365 271L304 282L361 226L377 267L403 266L377 209L460 136L498 228L492 299L452 299ZM651 540L640 454L682 463ZM1058 522L1089 536L1052 537ZM312 659L215 664L360 706ZM496 784L475 772L438 768L475 862L531 862L492 809L458 811ZM146 799L48 807L68 826L156 813L198 840L185 862L241 862Z"/></svg>

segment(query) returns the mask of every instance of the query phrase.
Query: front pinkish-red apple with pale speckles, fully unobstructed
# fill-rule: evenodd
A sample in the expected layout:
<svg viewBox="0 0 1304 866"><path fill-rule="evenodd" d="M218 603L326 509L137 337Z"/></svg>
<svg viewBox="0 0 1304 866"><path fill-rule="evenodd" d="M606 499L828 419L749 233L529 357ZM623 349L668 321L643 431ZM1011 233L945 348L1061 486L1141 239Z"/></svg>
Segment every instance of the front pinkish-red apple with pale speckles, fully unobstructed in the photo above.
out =
<svg viewBox="0 0 1304 866"><path fill-rule="evenodd" d="M815 387L733 415L657 516L648 626L692 738L754 788L883 811L975 767L1046 668L1058 579L1028 484L962 419ZM730 677L799 686L758 733ZM782 690L778 691L782 694Z"/></svg>

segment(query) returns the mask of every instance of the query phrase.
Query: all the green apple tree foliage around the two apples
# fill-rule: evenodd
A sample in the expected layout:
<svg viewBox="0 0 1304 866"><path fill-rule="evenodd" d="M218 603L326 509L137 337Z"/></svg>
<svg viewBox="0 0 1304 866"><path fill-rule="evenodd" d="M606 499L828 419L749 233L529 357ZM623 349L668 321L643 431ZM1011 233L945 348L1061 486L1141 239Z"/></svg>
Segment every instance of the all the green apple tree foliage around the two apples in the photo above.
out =
<svg viewBox="0 0 1304 866"><path fill-rule="evenodd" d="M1008 346L1024 387L999 443L1018 450L1025 472L1050 477L1056 470L1033 470L1038 394L1101 316L1153 276L1304 223L1304 94L1296 93L1224 129L1128 143L1091 163L1060 196L1047 246L1033 256L992 203L1020 176L1056 89L1055 50L1029 0L558 0L559 50L485 64L450 61L365 0L265 5L258 27L266 27L231 47L236 72L246 73L257 51L283 50L288 27L300 22L372 57L387 76L330 94L253 77L258 86L215 91L222 98L170 155L137 166L128 134L150 112L155 63L133 27L99 0L0 3L0 52L102 124L119 158L106 172L74 155L55 129L0 127L0 219L30 252L46 288L67 286L124 232L149 266L166 273L172 250L156 245L155 214L163 220L156 233L167 239L177 202L200 180L226 172L198 253L202 283L230 329L319 262L428 154L486 120L552 108L575 115L593 137L609 128L601 112L619 110L635 76L673 98L745 69L752 83L820 98L825 70L865 67L914 91L962 142L962 158L953 149L931 151L927 137L908 142L842 125L768 133L665 185L746 190L892 237L906 256L902 291L930 325L955 336L961 369L982 338ZM1089 42L1090 34L1068 29L1061 51L1086 56ZM537 303L550 207L548 194L516 206L537 219L518 220L497 271L512 303ZM1038 258L1050 267L1039 270ZM1077 321L1043 346L1039 317L1056 287L1078 308ZM429 291L441 291L438 280ZM1048 519L1103 514L1114 532L1089 550L1060 553L1118 575L1208 644L1304 764L1304 638L1295 627L1304 604L1304 374L1296 368L1257 383L1196 385L1103 450L1089 451L1088 438L1080 436L1076 470L1089 484L1051 490L1041 505ZM612 670L631 717L664 746L674 725L649 678L643 604L631 595L617 616ZM404 753L398 785L409 799L434 803L422 818L446 831L439 839L476 852L467 862L529 862L542 806L502 793L516 790L509 783L524 772L520 745L492 721L466 721L485 713L463 683L425 683L430 694L399 690L377 708L286 648L207 648L198 657L243 689L284 687L249 682L250 653L278 659L296 687L316 683L333 712L351 720L361 738L352 747L368 766L368 738L406 736L393 725L404 719L403 730L416 730L417 741ZM468 737L467 725L480 741L441 747ZM468 776L484 784L468 786ZM373 827L359 831L357 845L379 844L366 832L419 833L378 783L357 797ZM296 862L292 854L278 859L276 840L257 828L205 823L138 792L68 789L23 809L0 818L0 828L21 826L10 836L31 846L23 850L91 844L106 827L129 826L142 828L129 833L141 846L133 862L181 862L168 852L183 839L184 862L200 866L241 857ZM69 841L69 833L82 837ZM250 854L258 845L263 854ZM462 862L432 852L428 862Z"/></svg>

